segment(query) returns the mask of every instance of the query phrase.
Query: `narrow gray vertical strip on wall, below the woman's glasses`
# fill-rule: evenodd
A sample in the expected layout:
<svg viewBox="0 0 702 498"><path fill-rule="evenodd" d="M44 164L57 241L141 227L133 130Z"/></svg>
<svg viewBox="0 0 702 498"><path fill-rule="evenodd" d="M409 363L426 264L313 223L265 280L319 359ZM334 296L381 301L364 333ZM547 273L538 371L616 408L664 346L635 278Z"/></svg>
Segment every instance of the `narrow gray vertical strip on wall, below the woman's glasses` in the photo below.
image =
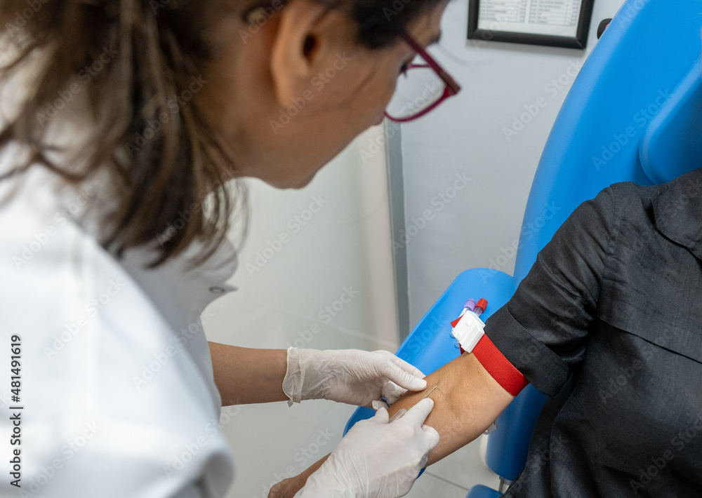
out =
<svg viewBox="0 0 702 498"><path fill-rule="evenodd" d="M399 123L385 120L385 139L388 164L388 195L390 196L390 223L392 254L395 262L397 288L397 323L400 340L409 335L409 279L407 276L407 246L402 243L404 233L404 175L402 173L402 128Z"/></svg>

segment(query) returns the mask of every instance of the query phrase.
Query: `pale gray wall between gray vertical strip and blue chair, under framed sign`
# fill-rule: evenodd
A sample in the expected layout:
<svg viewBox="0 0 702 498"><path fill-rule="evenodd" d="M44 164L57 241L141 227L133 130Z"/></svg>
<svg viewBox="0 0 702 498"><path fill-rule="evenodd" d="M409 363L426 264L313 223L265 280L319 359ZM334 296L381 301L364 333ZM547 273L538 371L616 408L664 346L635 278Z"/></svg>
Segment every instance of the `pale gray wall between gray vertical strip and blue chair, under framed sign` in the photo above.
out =
<svg viewBox="0 0 702 498"><path fill-rule="evenodd" d="M416 234L407 243L411 327L461 271L491 264L514 271L511 246L548 133L576 69L597 43L597 26L621 4L595 1L585 51L467 40L468 0L449 4L439 62L463 90L402 126L406 230ZM507 137L505 128L540 97L545 107ZM445 203L441 196L454 194L456 175L470 183ZM412 228L422 224L425 210L432 220Z"/></svg>

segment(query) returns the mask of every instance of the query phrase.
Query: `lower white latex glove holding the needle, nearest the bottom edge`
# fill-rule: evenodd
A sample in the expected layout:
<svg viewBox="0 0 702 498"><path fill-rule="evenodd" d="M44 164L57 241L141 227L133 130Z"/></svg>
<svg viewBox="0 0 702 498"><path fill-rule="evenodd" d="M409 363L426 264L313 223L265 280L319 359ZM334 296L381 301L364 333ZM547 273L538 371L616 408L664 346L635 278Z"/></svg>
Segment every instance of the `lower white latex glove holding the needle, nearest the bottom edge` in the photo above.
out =
<svg viewBox="0 0 702 498"><path fill-rule="evenodd" d="M409 493L439 433L424 421L434 408L425 398L388 421L380 408L351 428L294 498L396 498Z"/></svg>

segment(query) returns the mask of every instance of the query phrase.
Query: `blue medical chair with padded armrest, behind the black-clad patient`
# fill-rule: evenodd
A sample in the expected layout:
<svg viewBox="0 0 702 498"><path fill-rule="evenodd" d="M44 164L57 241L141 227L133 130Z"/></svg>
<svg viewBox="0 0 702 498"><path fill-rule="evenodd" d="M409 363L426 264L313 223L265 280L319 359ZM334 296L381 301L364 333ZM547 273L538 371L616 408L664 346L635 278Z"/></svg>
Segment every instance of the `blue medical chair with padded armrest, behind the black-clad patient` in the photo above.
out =
<svg viewBox="0 0 702 498"><path fill-rule="evenodd" d="M458 357L450 322L469 297L489 304L485 320L508 302L536 255L583 201L612 183L658 184L702 167L702 0L628 0L574 82L546 142L531 186L515 275L469 269L456 277L416 325L397 356L429 374ZM550 219L547 206L560 208ZM524 469L545 395L527 386L497 419L486 463L515 480ZM346 426L371 417L359 408ZM502 487L502 485L501 485ZM503 490L500 490L503 491ZM499 497L477 485L469 498Z"/></svg>

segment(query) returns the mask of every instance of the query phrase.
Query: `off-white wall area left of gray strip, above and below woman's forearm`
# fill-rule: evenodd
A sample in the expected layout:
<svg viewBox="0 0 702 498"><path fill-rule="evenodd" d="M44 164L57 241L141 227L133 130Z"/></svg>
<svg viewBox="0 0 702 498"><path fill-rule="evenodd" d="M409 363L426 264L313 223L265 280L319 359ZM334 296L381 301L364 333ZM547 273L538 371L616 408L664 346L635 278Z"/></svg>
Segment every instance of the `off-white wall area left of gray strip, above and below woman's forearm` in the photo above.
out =
<svg viewBox="0 0 702 498"><path fill-rule="evenodd" d="M305 189L250 182L251 234L230 281L239 290L205 310L208 339L274 349L397 349L385 154L365 163L359 154L378 133L359 137ZM272 483L330 452L352 411L330 401L223 408L236 473L228 496L267 496Z"/></svg>

